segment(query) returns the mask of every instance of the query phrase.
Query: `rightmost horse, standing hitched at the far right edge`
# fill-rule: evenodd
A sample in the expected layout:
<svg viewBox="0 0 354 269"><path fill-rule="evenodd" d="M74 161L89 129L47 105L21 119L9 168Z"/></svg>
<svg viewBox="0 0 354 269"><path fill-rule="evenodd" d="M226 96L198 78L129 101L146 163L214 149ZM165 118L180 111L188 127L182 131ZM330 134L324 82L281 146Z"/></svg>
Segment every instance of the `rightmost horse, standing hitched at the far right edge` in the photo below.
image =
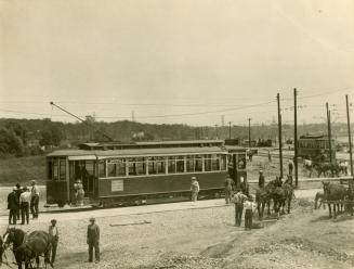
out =
<svg viewBox="0 0 354 269"><path fill-rule="evenodd" d="M328 209L329 209L329 218L332 217L332 212L330 206L331 203L333 204L333 218L336 218L337 217L336 205L338 212L339 212L339 205L343 207L343 201L346 195L346 190L342 184L336 184L330 182L323 182L323 184L324 184L325 200L327 201Z"/></svg>

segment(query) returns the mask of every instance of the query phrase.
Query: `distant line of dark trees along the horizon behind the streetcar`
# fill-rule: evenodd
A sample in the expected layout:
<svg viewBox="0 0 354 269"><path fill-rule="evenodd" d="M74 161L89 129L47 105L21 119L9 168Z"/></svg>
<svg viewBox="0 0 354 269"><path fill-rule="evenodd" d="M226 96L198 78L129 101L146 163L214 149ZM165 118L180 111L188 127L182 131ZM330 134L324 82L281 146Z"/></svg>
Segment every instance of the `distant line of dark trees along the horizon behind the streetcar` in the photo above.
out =
<svg viewBox="0 0 354 269"><path fill-rule="evenodd" d="M106 142L106 133L115 141L158 141L195 139L248 139L248 126L193 127L187 125L156 125L136 121L96 121L88 116L86 123L60 123L44 119L0 119L0 157L28 156L43 153L57 146L74 146L82 142ZM97 131L100 130L100 131ZM231 131L231 132L230 132ZM293 126L283 126L284 141L293 136ZM298 133L327 133L325 124L301 125ZM346 125L332 126L335 136L345 136ZM251 127L251 139L258 141L277 140L277 125L258 125Z"/></svg>

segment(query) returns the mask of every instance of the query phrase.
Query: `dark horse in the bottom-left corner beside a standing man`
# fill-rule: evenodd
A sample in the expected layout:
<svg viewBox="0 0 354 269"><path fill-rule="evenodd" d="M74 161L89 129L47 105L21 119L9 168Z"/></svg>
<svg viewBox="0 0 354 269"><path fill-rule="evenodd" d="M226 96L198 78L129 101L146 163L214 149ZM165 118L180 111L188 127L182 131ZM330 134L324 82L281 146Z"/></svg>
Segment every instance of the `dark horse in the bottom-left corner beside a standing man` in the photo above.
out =
<svg viewBox="0 0 354 269"><path fill-rule="evenodd" d="M8 229L5 235L5 246L13 244L13 252L16 258L18 269L22 269L22 264L25 262L25 268L31 268L31 260L36 259L37 268L39 268L39 256L44 255L44 264L50 262L51 240L50 235L43 231L34 231L26 235L21 229ZM4 235L4 236L5 236Z"/></svg>

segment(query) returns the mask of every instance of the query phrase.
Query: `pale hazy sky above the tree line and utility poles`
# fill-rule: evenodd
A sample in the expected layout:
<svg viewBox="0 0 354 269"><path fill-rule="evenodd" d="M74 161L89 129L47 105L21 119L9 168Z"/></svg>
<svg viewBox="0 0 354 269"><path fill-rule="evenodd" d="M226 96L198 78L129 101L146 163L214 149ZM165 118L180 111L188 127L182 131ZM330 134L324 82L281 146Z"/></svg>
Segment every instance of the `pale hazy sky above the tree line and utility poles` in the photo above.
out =
<svg viewBox="0 0 354 269"><path fill-rule="evenodd" d="M345 120L352 0L0 0L0 117ZM353 102L354 103L354 102Z"/></svg>

